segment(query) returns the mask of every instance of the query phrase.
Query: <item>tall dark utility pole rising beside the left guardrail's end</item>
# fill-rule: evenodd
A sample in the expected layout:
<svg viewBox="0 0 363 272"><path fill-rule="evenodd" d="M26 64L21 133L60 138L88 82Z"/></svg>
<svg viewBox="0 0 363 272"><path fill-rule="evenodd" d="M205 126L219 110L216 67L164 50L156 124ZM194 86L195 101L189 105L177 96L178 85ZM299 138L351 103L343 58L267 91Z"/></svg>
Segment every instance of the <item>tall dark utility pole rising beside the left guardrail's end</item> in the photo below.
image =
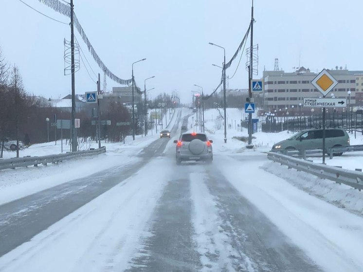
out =
<svg viewBox="0 0 363 272"><path fill-rule="evenodd" d="M73 0L71 0L71 77L72 77L72 152L77 151L77 137L75 134L75 84L74 84L74 30L73 30Z"/></svg>

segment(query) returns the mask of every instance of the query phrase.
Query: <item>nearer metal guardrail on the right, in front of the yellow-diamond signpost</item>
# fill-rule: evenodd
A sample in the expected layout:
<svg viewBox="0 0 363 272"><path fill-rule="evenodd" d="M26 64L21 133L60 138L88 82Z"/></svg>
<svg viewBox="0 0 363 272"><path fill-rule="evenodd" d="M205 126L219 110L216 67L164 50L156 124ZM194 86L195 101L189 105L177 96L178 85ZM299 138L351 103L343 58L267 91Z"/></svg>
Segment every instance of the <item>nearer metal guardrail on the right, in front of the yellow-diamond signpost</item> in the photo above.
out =
<svg viewBox="0 0 363 272"><path fill-rule="evenodd" d="M328 166L325 164L312 163L310 161L305 161L276 152L268 152L267 157L269 160L281 163L281 165L287 165L289 168L304 171L322 179L335 181L339 184L343 183L358 189L359 191L363 189L362 172Z"/></svg>

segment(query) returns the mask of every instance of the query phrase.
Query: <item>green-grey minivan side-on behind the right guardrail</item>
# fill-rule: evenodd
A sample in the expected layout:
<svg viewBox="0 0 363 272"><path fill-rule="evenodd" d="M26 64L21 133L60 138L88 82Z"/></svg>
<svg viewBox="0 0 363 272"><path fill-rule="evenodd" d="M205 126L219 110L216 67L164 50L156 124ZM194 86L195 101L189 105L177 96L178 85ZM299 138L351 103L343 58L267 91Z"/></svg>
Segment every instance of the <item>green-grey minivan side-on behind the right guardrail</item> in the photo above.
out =
<svg viewBox="0 0 363 272"><path fill-rule="evenodd" d="M350 139L348 133L343 128L327 128L326 148L349 146ZM281 141L272 146L272 151L280 150L308 150L323 148L323 129L312 128L305 129L295 133L287 140ZM334 153L335 156L341 156L343 152Z"/></svg>

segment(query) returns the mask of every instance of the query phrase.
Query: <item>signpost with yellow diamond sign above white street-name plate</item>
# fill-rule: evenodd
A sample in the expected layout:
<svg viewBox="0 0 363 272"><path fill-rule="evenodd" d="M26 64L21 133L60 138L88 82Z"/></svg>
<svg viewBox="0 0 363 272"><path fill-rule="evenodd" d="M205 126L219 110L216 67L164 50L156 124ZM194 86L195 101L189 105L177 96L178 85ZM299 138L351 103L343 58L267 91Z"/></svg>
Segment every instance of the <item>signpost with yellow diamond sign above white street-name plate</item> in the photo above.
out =
<svg viewBox="0 0 363 272"><path fill-rule="evenodd" d="M326 95L334 89L335 86L337 86L338 81L330 74L327 72L327 70L323 69L322 72L320 72L312 81L311 84L318 90L320 91L324 97L326 97ZM323 98L324 99L324 98ZM332 99L332 98L330 98ZM338 99L341 100L341 99ZM343 101L344 102L344 101ZM312 102L312 104L315 104L314 102ZM318 103L319 104L319 103ZM327 107L329 103L326 102L322 102L321 105L323 106L323 164L325 164L325 119L326 119L326 112L325 112L325 108ZM340 103L337 102L338 105L340 105ZM341 103L342 105L344 105L343 103ZM346 101L345 101L346 104ZM305 105L305 99L304 99L304 105ZM330 105L330 104L329 104ZM322 107L320 106L320 107ZM333 106L334 107L334 106Z"/></svg>

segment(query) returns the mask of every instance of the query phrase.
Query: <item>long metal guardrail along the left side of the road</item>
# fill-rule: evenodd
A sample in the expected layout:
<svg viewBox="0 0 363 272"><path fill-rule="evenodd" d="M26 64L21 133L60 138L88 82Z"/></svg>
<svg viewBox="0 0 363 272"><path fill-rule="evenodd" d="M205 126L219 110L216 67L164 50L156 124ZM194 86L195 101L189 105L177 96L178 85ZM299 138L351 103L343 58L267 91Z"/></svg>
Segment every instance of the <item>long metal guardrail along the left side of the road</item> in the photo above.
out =
<svg viewBox="0 0 363 272"><path fill-rule="evenodd" d="M47 165L47 163L59 163L62 161L70 160L77 157L98 155L100 153L106 152L106 147L102 146L98 149L84 150L77 152L67 152L65 154L55 154L40 157L24 157L24 158L12 158L6 160L0 160L0 170L3 169L14 169L16 167L26 167L26 166L38 166L38 164Z"/></svg>

